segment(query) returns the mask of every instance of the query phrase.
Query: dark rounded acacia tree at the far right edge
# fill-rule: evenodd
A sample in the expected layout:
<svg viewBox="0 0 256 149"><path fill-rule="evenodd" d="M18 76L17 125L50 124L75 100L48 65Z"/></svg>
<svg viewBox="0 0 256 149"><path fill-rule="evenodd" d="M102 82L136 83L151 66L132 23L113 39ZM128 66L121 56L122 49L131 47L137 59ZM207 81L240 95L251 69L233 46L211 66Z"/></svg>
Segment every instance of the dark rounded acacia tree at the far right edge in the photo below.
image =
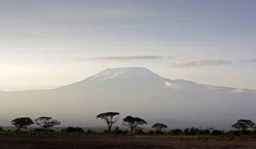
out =
<svg viewBox="0 0 256 149"><path fill-rule="evenodd" d="M248 128L256 128L256 125L250 119L240 119L232 127L239 131L247 131Z"/></svg>

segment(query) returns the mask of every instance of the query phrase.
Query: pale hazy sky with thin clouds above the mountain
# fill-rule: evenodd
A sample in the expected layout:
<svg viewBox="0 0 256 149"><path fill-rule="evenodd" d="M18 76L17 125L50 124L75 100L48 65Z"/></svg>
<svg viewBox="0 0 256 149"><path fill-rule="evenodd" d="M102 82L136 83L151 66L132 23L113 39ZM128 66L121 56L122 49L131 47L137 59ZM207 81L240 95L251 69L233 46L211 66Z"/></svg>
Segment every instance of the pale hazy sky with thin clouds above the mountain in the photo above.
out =
<svg viewBox="0 0 256 149"><path fill-rule="evenodd" d="M108 67L256 89L254 0L0 0L0 90L50 89Z"/></svg>

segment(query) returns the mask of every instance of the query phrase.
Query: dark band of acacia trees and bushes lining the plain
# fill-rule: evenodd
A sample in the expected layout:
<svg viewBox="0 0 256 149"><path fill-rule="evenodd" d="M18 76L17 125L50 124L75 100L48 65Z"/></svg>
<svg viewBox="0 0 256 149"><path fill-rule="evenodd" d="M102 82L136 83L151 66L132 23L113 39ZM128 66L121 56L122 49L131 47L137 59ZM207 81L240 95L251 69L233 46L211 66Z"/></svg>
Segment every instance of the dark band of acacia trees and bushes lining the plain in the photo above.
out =
<svg viewBox="0 0 256 149"><path fill-rule="evenodd" d="M234 130L220 131L213 128L186 128L186 129L172 129L166 131L164 123L155 123L152 130L143 131L141 126L147 124L146 121L139 117L126 116L122 120L122 125L127 126L128 130L122 130L114 126L119 119L119 113L107 112L96 116L100 118L107 126L106 131L92 131L83 130L80 127L63 128L61 131L54 131L54 126L60 125L60 121L52 117L41 116L36 118L35 122L28 117L15 118L11 124L16 126L16 131L4 130L0 127L0 135L35 135L35 136L191 136L191 137L256 137L256 125L250 120L240 119L233 124ZM30 128L28 126L35 124L37 128Z"/></svg>

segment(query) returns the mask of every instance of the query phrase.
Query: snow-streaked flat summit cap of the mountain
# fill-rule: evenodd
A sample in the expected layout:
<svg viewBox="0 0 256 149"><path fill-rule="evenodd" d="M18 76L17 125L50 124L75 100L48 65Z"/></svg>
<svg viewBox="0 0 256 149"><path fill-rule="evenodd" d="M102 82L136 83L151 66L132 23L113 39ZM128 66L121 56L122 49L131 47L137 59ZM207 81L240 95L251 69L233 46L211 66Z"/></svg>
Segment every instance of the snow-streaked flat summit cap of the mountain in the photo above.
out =
<svg viewBox="0 0 256 149"><path fill-rule="evenodd" d="M107 80L107 79L143 79L149 77L159 77L150 70L143 67L118 67L103 70L90 77L90 80Z"/></svg>

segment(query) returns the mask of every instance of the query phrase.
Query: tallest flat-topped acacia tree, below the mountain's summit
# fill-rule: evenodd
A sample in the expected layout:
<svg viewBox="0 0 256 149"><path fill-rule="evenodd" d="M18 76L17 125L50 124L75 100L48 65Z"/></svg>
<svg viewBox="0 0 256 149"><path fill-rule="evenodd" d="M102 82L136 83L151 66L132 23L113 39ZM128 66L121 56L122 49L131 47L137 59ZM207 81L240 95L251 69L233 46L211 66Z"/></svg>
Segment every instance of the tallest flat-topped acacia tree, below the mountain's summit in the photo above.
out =
<svg viewBox="0 0 256 149"><path fill-rule="evenodd" d="M96 118L102 119L102 121L104 121L107 124L108 131L111 131L112 126L119 119L119 113L118 112L106 112L106 113L97 115Z"/></svg>

